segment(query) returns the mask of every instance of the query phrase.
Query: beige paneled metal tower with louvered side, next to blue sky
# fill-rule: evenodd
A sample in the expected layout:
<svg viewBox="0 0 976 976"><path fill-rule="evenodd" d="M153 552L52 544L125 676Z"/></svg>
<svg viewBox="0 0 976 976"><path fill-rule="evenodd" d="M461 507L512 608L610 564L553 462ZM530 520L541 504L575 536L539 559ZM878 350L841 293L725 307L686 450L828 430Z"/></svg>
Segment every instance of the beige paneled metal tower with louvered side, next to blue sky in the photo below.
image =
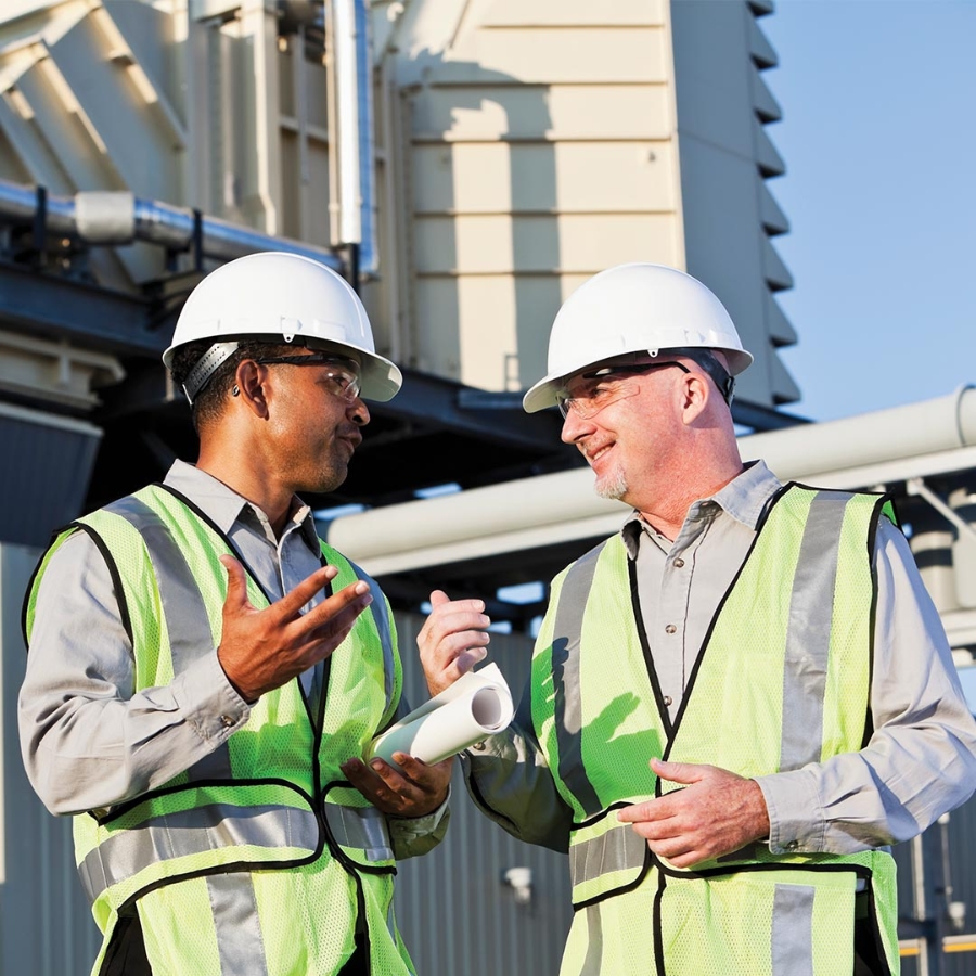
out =
<svg viewBox="0 0 976 976"><path fill-rule="evenodd" d="M401 4L400 4L401 5ZM391 2L373 4L391 16ZM396 85L404 361L487 389L545 372L549 326L591 274L659 261L705 280L757 369L742 393L798 397L775 354L787 229L758 17L769 0L413 0L377 51Z"/></svg>

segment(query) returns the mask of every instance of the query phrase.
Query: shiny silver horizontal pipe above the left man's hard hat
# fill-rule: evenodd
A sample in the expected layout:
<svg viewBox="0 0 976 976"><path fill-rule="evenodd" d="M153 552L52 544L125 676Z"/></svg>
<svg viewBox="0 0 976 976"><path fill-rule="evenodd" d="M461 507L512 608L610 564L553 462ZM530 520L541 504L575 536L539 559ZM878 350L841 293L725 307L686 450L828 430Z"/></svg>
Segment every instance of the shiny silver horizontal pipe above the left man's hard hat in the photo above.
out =
<svg viewBox="0 0 976 976"><path fill-rule="evenodd" d="M144 241L183 251L193 249L198 240L201 256L215 260L229 261L258 251L290 251L342 270L342 261L325 248L204 217L189 207L140 200L128 191L57 196L40 187L0 180L0 216L31 221L41 215L49 232L77 235L87 244L124 246Z"/></svg>

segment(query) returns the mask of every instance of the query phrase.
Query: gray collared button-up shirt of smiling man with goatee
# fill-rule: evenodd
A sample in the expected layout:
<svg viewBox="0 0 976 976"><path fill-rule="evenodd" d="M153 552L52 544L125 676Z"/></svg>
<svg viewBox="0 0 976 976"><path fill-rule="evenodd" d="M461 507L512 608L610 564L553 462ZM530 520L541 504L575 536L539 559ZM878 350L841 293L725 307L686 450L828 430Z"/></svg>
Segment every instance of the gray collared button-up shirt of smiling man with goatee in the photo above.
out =
<svg viewBox="0 0 976 976"><path fill-rule="evenodd" d="M637 560L647 639L671 717L719 601L732 583L781 483L761 461L695 502L673 542L632 515L622 528ZM976 786L976 721L965 703L939 615L903 535L882 519L871 708L875 731L858 753L757 778L770 849L848 853L907 839ZM511 734L465 757L503 826L565 848L568 810L555 795L524 706ZM650 758L650 757L648 757ZM514 830L513 830L514 827Z"/></svg>

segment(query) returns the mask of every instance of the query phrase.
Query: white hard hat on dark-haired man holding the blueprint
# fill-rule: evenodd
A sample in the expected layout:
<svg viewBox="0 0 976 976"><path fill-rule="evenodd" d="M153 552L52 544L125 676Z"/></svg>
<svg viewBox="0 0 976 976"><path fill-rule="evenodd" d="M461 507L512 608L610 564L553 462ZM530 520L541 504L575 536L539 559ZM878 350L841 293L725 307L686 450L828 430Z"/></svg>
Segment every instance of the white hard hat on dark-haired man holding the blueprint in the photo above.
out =
<svg viewBox="0 0 976 976"><path fill-rule="evenodd" d="M188 343L214 341L194 368L200 375L192 389L188 383L192 400L236 349L234 339L261 338L348 350L359 361L368 400L391 399L403 382L399 369L376 354L369 317L351 285L325 265L283 251L235 258L201 281L183 305L163 362L168 369Z"/></svg>

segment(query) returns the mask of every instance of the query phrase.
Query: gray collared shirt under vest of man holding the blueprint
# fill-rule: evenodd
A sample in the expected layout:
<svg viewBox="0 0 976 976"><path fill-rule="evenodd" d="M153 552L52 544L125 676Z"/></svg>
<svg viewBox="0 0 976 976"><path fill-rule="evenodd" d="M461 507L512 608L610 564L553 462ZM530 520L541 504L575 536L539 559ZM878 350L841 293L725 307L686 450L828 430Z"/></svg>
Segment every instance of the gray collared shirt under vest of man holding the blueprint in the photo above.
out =
<svg viewBox="0 0 976 976"><path fill-rule="evenodd" d="M314 521L299 499L278 539L260 509L191 464L177 461L164 484L230 538L272 601L321 565ZM314 670L301 676L306 692ZM249 714L216 647L169 684L136 692L132 647L104 558L85 532L59 549L38 592L18 701L24 766L52 813L105 808L162 786L224 743ZM390 818L397 857L420 853L433 834L442 835L445 810Z"/></svg>

